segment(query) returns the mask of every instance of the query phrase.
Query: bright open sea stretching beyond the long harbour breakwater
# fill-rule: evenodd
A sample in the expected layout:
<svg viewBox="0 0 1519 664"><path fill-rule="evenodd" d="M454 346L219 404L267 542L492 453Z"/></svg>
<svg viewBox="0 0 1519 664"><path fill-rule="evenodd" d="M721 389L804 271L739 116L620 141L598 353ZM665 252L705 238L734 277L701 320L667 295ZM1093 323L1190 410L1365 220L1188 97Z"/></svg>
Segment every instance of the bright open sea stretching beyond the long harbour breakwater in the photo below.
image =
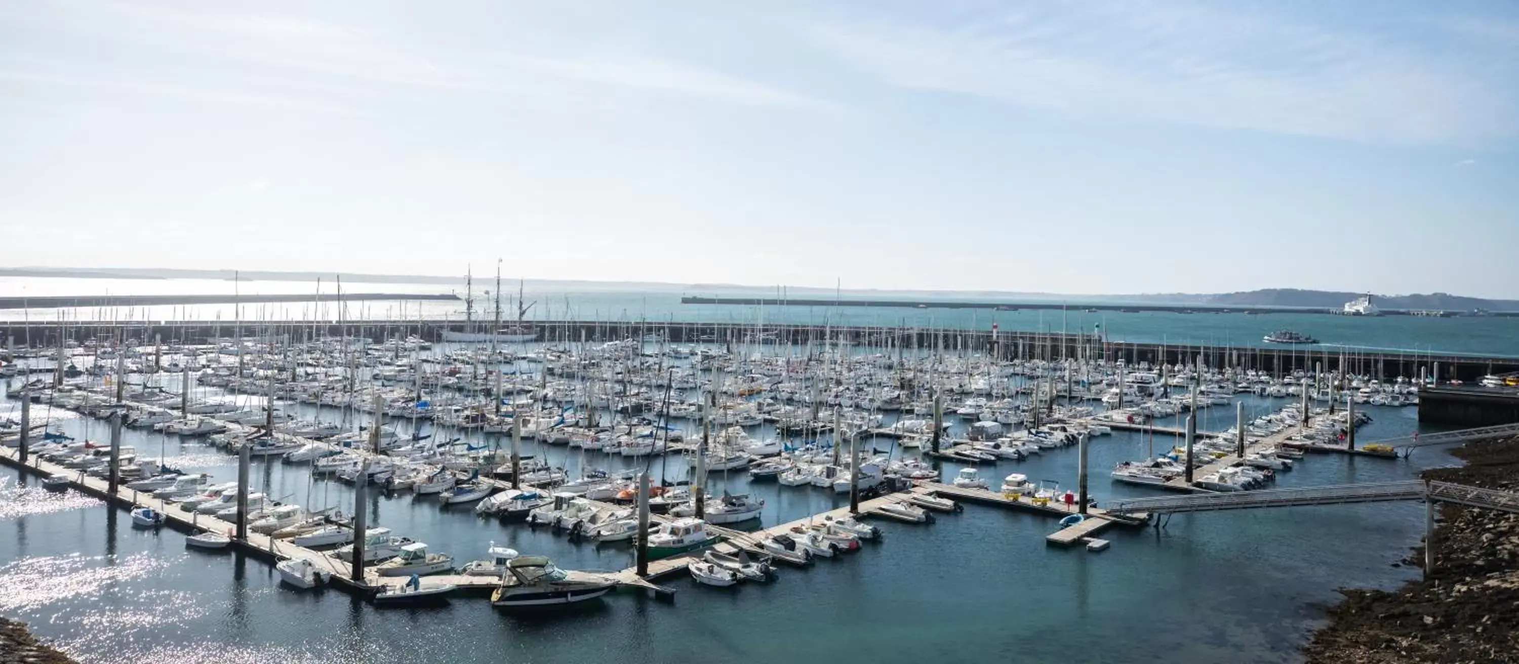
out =
<svg viewBox="0 0 1519 664"><path fill-rule="evenodd" d="M475 283L477 319L494 315L494 302L480 295L492 284ZM316 293L316 283L252 281L238 286L243 293ZM447 286L428 284L348 284L345 292L369 293L442 293ZM20 278L0 277L0 296L24 295L175 295L175 293L231 293L229 281L208 280L74 280L74 278ZM324 293L333 293L334 284L322 283ZM509 290L515 298L516 292ZM1072 301L1071 311L1050 310L949 310L949 308L902 308L902 307L729 307L687 305L681 295L725 295L720 289L693 290L529 290L524 296L536 302L529 311L535 319L576 321L685 321L685 322L788 322L788 324L840 324L876 327L919 328L965 328L989 330L998 324L1001 330L1019 331L1092 331L1101 325L1110 340L1121 342L1167 342L1211 343L1230 346L1264 346L1261 337L1276 330L1290 328L1317 337L1323 345L1317 351L1338 353L1353 349L1401 349L1414 353L1483 354L1519 357L1519 318L1347 318L1325 313L1271 313L1247 316L1243 313L1086 313L1080 301ZM753 292L744 293L755 296ZM773 295L766 295L773 296ZM860 296L855 296L860 298ZM928 299L914 296L913 299ZM954 299L954 298L945 298ZM515 318L515 307L503 304L504 316ZM331 321L337 316L336 302L313 304L246 304L242 318L248 321ZM462 302L349 302L343 308L348 319L357 318L428 318L463 319ZM58 310L3 310L0 321L56 321ZM68 319L111 321L235 321L232 305L194 307L118 307L77 308L62 311ZM23 339L17 340L18 343ZM1279 346L1277 346L1279 348Z"/></svg>

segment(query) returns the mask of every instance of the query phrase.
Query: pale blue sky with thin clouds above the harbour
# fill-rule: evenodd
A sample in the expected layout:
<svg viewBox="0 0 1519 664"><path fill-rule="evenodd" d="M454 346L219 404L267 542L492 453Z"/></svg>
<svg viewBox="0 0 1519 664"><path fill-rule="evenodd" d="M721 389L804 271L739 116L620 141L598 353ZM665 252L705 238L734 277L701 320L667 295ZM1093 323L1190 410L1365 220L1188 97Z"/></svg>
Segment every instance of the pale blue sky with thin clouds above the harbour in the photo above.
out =
<svg viewBox="0 0 1519 664"><path fill-rule="evenodd" d="M1510 2L0 0L0 263L1519 296Z"/></svg>

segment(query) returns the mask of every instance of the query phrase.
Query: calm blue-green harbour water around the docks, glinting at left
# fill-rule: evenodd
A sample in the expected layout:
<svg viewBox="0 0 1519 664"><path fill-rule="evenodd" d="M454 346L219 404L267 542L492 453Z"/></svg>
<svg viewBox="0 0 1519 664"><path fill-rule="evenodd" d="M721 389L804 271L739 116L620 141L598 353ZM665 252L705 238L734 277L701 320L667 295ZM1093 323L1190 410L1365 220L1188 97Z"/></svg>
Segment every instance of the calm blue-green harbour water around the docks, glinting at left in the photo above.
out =
<svg viewBox="0 0 1519 664"><path fill-rule="evenodd" d="M1247 401L1267 410L1285 400ZM0 401L0 416L11 412ZM1214 409L1205 428L1224 428ZM1413 409L1370 407L1363 441L1417 427ZM47 416L46 409L33 416ZM74 436L106 436L71 418ZM1159 448L1168 441L1156 438ZM179 457L190 470L235 476L231 456L155 433L129 432L140 454ZM886 441L880 447L889 445ZM1139 435L1100 438L1091 450L1095 497L1151 492L1115 485L1107 470L1147 454ZM550 448L554 462L579 453ZM1074 486L1075 448L1003 462L995 477L1025 473ZM605 457L592 456L592 465ZM1413 477L1455 460L1420 450L1413 460L1309 456L1279 486ZM612 466L621 463L615 459ZM658 473L658 460L655 471ZM946 476L957 470L945 463ZM684 473L679 459L671 477ZM257 462L263 491L302 504L352 504L351 488L310 482L304 468ZM767 500L764 524L843 501L831 492L747 486L714 476L718 489ZM573 544L547 530L504 526L471 509L441 511L410 495L371 497L371 515L398 533L453 553L459 564L495 541L544 553L571 568L621 568L626 545ZM1164 530L1116 529L1103 553L1050 549L1044 517L968 506L928 526L880 523L880 544L778 582L725 591L676 576L673 603L609 596L585 611L501 614L482 599L445 608L375 609L339 591L283 588L272 567L229 553L185 550L184 535L131 527L125 512L74 495L41 492L35 479L0 473L0 614L32 623L84 661L1124 661L1279 662L1315 624L1335 587L1393 587L1414 570L1390 564L1423 529L1416 503L1291 507L1177 515ZM1069 647L1092 634L1109 647ZM1095 643L1095 641L1094 641Z"/></svg>

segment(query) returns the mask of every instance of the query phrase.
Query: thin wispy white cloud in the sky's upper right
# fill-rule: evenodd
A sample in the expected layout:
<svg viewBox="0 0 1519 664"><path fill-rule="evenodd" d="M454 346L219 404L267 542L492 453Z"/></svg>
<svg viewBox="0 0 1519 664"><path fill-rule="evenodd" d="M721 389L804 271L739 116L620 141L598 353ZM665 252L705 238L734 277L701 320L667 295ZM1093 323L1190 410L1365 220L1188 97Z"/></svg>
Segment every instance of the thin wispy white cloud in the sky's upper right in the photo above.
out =
<svg viewBox="0 0 1519 664"><path fill-rule="evenodd" d="M1519 137L1511 49L1420 44L1218 8L962 6L797 29L895 87L1074 115L1378 143Z"/></svg>

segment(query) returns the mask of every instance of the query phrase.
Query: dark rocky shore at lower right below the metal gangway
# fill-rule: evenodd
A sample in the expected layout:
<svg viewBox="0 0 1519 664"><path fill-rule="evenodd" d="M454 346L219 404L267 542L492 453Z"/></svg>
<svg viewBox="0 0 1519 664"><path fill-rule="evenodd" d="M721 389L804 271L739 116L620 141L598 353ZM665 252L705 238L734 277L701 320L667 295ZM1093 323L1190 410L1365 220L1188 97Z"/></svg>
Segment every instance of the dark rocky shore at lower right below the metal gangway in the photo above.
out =
<svg viewBox="0 0 1519 664"><path fill-rule="evenodd" d="M1519 438L1475 442L1425 479L1519 491ZM1434 573L1387 593L1346 590L1309 662L1519 662L1519 515L1442 504ZM1423 565L1423 545L1407 564Z"/></svg>

